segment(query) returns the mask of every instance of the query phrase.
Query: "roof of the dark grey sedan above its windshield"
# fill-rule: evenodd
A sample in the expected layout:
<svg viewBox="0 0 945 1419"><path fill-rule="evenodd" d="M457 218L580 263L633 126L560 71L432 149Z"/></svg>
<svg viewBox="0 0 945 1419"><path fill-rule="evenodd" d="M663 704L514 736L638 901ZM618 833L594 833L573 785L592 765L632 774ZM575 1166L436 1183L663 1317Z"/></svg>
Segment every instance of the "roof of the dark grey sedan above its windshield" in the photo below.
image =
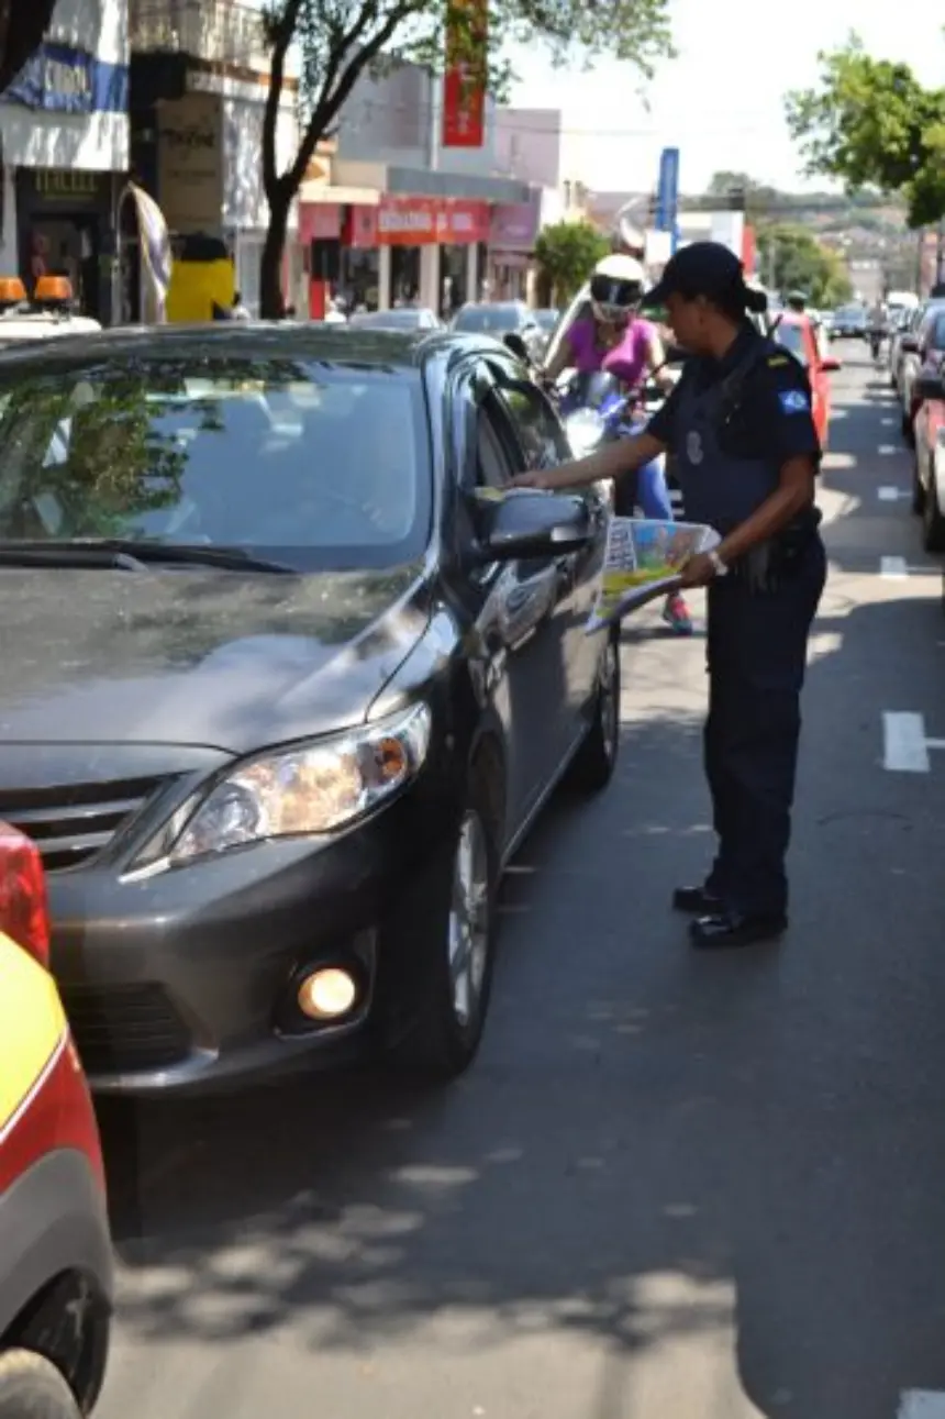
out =
<svg viewBox="0 0 945 1419"><path fill-rule="evenodd" d="M186 358L217 355L274 359L295 358L338 363L376 365L402 370L421 369L440 358L453 362L468 355L497 352L499 341L451 331L379 331L315 321L211 321L196 325L126 325L84 335L61 335L52 345L30 341L0 348L0 375L20 366L43 372L129 358Z"/></svg>

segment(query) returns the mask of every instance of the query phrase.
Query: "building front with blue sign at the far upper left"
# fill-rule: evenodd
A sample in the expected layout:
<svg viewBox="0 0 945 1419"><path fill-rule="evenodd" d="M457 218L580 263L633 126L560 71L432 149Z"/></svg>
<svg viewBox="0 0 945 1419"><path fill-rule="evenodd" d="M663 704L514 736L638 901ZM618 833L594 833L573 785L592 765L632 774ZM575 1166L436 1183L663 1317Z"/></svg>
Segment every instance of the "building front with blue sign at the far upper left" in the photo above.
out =
<svg viewBox="0 0 945 1419"><path fill-rule="evenodd" d="M78 307L118 304L118 203L129 160L128 10L58 0L50 33L0 99L0 271L67 275Z"/></svg>

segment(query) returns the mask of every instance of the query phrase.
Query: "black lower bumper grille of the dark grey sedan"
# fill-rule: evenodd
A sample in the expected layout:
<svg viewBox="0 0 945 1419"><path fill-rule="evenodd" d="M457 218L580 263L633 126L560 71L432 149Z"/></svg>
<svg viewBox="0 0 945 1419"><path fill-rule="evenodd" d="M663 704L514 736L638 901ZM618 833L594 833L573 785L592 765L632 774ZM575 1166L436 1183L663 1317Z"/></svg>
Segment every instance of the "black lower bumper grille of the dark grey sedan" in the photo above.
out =
<svg viewBox="0 0 945 1419"><path fill-rule="evenodd" d="M190 1051L187 1027L159 985L64 986L61 993L89 1074L167 1069Z"/></svg>

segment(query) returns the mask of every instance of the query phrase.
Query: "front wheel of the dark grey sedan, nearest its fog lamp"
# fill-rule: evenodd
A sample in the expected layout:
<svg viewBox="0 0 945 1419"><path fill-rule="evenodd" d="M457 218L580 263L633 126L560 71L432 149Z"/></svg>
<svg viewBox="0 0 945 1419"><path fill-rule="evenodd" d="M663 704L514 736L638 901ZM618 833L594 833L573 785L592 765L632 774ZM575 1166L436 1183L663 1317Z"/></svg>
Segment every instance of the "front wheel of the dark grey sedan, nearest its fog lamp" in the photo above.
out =
<svg viewBox="0 0 945 1419"><path fill-rule="evenodd" d="M499 878L495 785L498 768L472 765L455 833L419 874L390 925L394 961L417 964L419 1000L393 1061L433 1083L448 1083L475 1059L492 990Z"/></svg>

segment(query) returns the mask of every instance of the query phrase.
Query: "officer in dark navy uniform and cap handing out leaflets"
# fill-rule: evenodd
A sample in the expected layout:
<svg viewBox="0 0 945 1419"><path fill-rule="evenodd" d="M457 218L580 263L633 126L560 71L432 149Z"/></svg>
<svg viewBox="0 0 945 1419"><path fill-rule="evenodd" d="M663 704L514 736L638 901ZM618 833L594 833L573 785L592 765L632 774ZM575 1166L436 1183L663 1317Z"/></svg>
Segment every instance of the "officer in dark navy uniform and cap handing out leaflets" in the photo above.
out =
<svg viewBox="0 0 945 1419"><path fill-rule="evenodd" d="M721 535L682 576L708 587L705 773L718 851L702 885L677 888L673 904L692 915L694 945L744 946L788 925L800 690L826 578L820 444L807 376L748 319L766 299L728 247L684 247L643 304L665 309L690 355L665 404L636 437L516 482L572 488L668 453L687 521Z"/></svg>

